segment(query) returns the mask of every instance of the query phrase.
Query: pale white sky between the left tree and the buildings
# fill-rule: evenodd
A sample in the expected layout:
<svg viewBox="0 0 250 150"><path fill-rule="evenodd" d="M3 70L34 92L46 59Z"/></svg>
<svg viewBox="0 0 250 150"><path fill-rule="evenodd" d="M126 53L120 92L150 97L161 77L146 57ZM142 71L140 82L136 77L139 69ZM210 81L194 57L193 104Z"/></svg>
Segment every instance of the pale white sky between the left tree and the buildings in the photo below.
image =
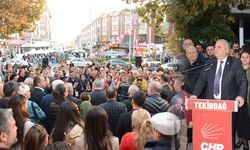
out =
<svg viewBox="0 0 250 150"><path fill-rule="evenodd" d="M103 13L129 8L129 5L122 0L47 0L47 2L52 16L52 40L59 43L73 40L81 29L90 23L90 16L94 20Z"/></svg>

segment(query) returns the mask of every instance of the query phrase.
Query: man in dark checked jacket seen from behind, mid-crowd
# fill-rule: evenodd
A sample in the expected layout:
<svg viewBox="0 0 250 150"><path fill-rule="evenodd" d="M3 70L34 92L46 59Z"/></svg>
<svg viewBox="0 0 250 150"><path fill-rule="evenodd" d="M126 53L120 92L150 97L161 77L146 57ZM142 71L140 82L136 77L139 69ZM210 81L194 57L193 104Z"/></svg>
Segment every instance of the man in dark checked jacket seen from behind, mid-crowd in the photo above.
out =
<svg viewBox="0 0 250 150"><path fill-rule="evenodd" d="M117 102L115 100L116 91L113 87L109 86L107 88L106 96L107 96L107 102L101 104L100 106L104 108L104 110L107 112L109 125L111 127L112 133L114 134L117 121L120 115L127 111L127 108L125 104Z"/></svg>

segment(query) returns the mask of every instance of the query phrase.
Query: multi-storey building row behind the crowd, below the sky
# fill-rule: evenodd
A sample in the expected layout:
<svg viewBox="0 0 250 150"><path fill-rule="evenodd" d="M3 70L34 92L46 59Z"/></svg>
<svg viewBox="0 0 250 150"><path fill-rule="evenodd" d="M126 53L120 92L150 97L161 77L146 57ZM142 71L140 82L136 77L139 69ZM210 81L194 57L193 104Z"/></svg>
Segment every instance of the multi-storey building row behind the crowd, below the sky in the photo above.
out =
<svg viewBox="0 0 250 150"><path fill-rule="evenodd" d="M118 43L123 45L123 48L128 49L129 33L131 32L132 47L138 43L162 43L155 35L154 30L143 23L134 10L131 12L130 15L130 10L124 9L97 17L91 24L82 29L82 41L76 42L82 42L82 47L86 49L90 48L91 41L93 49L99 49L108 43Z"/></svg>

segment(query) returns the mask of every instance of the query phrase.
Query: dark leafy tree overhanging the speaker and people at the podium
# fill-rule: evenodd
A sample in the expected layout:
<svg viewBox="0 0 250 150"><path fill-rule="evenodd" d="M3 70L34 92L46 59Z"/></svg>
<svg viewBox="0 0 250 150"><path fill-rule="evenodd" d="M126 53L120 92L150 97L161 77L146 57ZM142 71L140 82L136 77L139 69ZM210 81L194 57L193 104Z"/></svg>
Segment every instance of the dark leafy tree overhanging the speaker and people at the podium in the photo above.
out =
<svg viewBox="0 0 250 150"><path fill-rule="evenodd" d="M230 28L234 22L230 6L237 3L247 5L248 1L140 0L136 11L144 22L155 26L156 32L160 31L163 21L173 23L175 32L168 35L172 41L190 38L194 42L206 43L218 38L234 39L235 35ZM173 36L176 40L173 40ZM172 41L168 41L168 44L171 45Z"/></svg>

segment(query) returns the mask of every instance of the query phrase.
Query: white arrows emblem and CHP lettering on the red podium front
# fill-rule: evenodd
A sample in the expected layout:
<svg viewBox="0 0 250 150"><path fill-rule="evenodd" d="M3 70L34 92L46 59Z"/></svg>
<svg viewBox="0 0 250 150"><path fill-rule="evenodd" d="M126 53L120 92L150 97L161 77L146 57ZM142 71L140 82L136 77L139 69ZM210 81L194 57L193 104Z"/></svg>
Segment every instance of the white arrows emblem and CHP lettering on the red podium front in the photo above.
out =
<svg viewBox="0 0 250 150"><path fill-rule="evenodd" d="M222 130L223 127L219 127L218 124L205 123L201 130L201 135L204 139L218 140L218 138L223 135ZM220 143L202 142L200 148L201 150L224 150L224 145Z"/></svg>

